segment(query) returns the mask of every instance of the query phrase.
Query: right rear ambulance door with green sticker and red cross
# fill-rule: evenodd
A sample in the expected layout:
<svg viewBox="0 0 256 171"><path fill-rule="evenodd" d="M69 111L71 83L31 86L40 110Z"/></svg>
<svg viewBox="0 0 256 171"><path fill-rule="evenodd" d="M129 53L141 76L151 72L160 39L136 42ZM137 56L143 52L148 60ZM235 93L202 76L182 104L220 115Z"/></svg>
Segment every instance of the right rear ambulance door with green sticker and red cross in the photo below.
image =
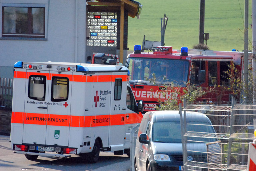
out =
<svg viewBox="0 0 256 171"><path fill-rule="evenodd" d="M68 146L72 72L49 74L46 144Z"/></svg>

